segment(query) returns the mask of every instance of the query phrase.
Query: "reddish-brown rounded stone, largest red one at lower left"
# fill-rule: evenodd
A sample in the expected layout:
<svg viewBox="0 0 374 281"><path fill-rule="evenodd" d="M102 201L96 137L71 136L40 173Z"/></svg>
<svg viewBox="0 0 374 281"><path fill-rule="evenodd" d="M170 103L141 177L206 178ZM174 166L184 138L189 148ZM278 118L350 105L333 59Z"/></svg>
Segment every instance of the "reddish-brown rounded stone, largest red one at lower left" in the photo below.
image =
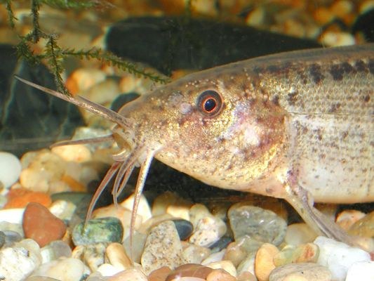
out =
<svg viewBox="0 0 374 281"><path fill-rule="evenodd" d="M66 232L66 226L60 218L39 203L29 203L23 214L22 228L26 238L35 240L40 247L49 242L61 239Z"/></svg>

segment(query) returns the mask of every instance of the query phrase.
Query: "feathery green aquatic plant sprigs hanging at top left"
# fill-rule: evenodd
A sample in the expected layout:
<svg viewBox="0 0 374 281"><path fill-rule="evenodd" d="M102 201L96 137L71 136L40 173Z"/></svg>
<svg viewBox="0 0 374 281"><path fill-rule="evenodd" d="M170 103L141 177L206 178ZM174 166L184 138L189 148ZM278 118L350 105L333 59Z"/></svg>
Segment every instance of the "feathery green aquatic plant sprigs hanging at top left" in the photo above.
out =
<svg viewBox="0 0 374 281"><path fill-rule="evenodd" d="M8 11L8 22L12 29L15 29L15 21L18 19L15 18L12 9L13 0L0 0L6 6ZM146 77L155 81L157 83L166 83L167 78L161 77L158 74L148 72L144 68L131 63L127 60L123 60L118 56L110 53L109 51L102 50L101 48L89 48L89 49L67 49L61 48L58 45L58 35L57 34L48 34L41 30L39 25L39 10L41 5L46 4L52 6L53 8L59 9L87 9L87 8L112 8L112 4L109 4L106 1L102 0L93 0L93 1L81 1L81 0L32 0L30 4L31 16L32 16L32 30L26 35L18 34L20 42L16 46L18 58L24 58L29 63L34 65L41 63L42 61L47 63L47 67L53 73L55 77L55 83L58 88L58 91L68 94L65 84L62 80L62 72L65 68L62 62L68 56L74 56L79 59L96 59L102 63L107 63L118 67L121 70L135 74L137 76ZM41 53L34 53L33 46L37 44L41 39L46 41L45 46Z"/></svg>

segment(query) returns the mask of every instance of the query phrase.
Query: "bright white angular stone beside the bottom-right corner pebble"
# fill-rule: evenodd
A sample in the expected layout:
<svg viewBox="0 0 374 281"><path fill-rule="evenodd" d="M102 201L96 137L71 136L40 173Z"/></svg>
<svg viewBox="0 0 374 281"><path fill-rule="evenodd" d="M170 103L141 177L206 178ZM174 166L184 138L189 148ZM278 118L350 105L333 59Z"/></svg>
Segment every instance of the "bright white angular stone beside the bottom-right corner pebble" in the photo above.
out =
<svg viewBox="0 0 374 281"><path fill-rule="evenodd" d="M370 254L359 248L349 247L347 244L337 242L326 237L316 237L314 244L319 246L317 263L326 266L333 280L344 281L348 269L358 261L370 261Z"/></svg>

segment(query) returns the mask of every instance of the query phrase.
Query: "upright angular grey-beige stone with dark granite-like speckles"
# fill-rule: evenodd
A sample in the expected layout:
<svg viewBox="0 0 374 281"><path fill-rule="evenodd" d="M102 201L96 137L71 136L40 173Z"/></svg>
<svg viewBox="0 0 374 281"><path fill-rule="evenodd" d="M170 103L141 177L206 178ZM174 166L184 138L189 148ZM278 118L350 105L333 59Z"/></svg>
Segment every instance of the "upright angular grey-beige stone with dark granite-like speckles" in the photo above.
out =
<svg viewBox="0 0 374 281"><path fill-rule="evenodd" d="M182 244L172 221L164 221L150 231L141 263L146 274L157 268L168 266L173 269L180 266L182 260Z"/></svg>

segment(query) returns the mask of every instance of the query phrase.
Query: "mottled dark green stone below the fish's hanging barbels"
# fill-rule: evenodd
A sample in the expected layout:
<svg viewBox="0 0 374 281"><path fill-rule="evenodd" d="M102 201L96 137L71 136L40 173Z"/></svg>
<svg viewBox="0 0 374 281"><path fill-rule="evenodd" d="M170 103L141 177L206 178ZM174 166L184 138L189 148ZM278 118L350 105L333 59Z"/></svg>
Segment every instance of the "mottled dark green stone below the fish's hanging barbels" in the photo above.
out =
<svg viewBox="0 0 374 281"><path fill-rule="evenodd" d="M74 227L72 239L74 244L86 245L99 242L121 242L123 237L123 227L118 218L94 218L84 223L79 223Z"/></svg>

